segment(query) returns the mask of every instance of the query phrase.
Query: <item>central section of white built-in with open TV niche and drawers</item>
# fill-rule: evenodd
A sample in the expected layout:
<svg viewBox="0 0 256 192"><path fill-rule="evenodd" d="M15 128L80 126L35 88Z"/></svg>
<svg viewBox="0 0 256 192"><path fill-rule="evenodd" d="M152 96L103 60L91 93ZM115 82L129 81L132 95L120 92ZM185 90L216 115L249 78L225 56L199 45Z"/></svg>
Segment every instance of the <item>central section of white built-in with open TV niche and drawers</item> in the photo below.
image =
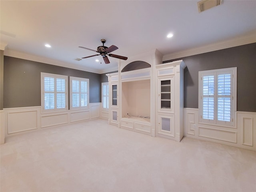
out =
<svg viewBox="0 0 256 192"><path fill-rule="evenodd" d="M151 135L151 68L120 74L120 128Z"/></svg>

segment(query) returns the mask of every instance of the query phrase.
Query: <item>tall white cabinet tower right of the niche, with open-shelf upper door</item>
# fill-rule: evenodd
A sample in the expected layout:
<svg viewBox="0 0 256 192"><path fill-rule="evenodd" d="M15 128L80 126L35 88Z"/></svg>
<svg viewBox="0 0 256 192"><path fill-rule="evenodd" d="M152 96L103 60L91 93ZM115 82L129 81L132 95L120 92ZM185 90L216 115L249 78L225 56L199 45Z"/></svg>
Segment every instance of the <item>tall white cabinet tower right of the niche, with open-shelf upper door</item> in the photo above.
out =
<svg viewBox="0 0 256 192"><path fill-rule="evenodd" d="M184 68L182 60L156 65L157 122L156 136L180 140L183 130Z"/></svg>

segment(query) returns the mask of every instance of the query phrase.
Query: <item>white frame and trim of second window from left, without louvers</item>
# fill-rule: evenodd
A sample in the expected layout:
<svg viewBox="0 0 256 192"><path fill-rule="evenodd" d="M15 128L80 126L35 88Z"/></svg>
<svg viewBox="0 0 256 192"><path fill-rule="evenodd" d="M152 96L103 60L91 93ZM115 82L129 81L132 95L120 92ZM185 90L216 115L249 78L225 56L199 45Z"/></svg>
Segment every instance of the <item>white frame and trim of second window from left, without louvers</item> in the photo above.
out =
<svg viewBox="0 0 256 192"><path fill-rule="evenodd" d="M79 81L79 85L81 84L81 81L87 82L87 106L72 107L72 80ZM89 79L70 76L69 84L70 84L70 110L89 108ZM80 93L79 93L79 95L80 95ZM79 104L81 105L81 99L80 99Z"/></svg>

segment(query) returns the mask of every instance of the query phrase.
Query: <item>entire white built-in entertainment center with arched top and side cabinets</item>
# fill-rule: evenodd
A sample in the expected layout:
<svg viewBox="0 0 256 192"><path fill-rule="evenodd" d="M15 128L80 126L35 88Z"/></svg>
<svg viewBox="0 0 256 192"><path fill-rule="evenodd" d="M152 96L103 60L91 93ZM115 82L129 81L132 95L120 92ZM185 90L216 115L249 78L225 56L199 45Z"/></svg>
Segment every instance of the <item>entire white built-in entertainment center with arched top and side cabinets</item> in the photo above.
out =
<svg viewBox="0 0 256 192"><path fill-rule="evenodd" d="M180 141L184 136L181 118L185 64L182 60L156 63L162 63L157 50L119 60L118 73L107 74L109 122L127 130Z"/></svg>

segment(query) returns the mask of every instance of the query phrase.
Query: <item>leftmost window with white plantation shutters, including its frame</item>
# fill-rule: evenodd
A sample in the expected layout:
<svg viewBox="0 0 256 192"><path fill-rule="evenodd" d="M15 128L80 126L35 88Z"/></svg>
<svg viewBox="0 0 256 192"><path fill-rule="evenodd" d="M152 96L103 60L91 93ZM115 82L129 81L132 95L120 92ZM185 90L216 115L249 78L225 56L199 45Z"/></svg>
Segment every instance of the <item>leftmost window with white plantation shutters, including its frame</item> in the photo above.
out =
<svg viewBox="0 0 256 192"><path fill-rule="evenodd" d="M41 73L41 106L43 112L68 110L68 76Z"/></svg>

